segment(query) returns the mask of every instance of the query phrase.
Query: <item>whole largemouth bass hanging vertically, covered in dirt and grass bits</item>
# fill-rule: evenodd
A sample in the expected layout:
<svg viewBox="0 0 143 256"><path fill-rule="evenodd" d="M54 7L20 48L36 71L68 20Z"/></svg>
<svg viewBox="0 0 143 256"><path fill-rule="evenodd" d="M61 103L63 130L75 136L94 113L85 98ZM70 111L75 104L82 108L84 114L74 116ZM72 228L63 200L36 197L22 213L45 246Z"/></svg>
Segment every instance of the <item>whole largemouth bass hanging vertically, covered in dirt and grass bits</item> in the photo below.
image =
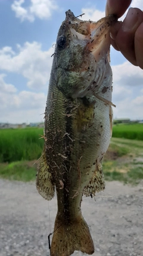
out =
<svg viewBox="0 0 143 256"><path fill-rule="evenodd" d="M45 146L36 187L46 200L57 191L52 256L93 254L82 195L105 188L102 159L112 132L110 25L115 17L83 21L69 10L57 36L45 110Z"/></svg>

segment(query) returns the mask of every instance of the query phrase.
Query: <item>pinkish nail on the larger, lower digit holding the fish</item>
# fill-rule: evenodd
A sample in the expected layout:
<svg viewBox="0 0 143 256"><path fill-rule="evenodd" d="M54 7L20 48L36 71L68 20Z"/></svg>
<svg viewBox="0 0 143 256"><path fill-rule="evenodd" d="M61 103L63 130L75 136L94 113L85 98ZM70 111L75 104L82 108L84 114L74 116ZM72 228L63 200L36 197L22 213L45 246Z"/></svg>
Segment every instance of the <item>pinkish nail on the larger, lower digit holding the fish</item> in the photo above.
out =
<svg viewBox="0 0 143 256"><path fill-rule="evenodd" d="M130 8L125 17L125 20L123 21L123 31L132 30L136 22L138 21L138 17L138 11L135 8Z"/></svg>

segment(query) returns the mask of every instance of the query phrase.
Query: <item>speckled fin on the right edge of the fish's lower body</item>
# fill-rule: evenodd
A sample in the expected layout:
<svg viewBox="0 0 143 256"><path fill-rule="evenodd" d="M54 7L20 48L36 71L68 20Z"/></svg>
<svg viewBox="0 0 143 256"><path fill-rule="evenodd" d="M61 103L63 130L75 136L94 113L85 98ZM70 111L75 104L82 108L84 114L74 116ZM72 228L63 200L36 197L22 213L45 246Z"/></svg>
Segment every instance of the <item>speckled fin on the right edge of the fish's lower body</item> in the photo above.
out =
<svg viewBox="0 0 143 256"><path fill-rule="evenodd" d="M105 181L104 181L104 174L102 172L102 165L98 164L95 168L94 175L92 176L92 179L88 183L87 186L85 186L83 190L83 194L86 195L86 197L89 197L90 195L95 195L97 192L100 192L105 189Z"/></svg>

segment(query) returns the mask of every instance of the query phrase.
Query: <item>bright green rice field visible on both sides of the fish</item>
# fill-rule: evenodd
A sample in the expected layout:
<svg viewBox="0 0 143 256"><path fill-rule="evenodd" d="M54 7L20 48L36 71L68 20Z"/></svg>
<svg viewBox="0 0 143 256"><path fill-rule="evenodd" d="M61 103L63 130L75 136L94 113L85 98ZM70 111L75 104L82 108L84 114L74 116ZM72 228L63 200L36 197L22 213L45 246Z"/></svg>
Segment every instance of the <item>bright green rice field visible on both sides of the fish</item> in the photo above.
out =
<svg viewBox="0 0 143 256"><path fill-rule="evenodd" d="M0 162L38 159L43 148L43 128L0 129ZM113 126L113 137L143 140L143 124Z"/></svg>

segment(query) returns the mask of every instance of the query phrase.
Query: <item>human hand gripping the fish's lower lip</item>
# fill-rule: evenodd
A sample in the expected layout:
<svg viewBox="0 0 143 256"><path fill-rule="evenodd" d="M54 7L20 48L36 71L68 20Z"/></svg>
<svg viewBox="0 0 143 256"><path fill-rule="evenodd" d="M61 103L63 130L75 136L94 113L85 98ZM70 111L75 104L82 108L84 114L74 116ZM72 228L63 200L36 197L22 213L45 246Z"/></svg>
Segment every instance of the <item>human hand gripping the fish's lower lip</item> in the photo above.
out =
<svg viewBox="0 0 143 256"><path fill-rule="evenodd" d="M106 15L121 17L132 0L107 0ZM143 13L138 8L130 8L123 22L117 22L110 30L111 44L130 63L143 69Z"/></svg>

